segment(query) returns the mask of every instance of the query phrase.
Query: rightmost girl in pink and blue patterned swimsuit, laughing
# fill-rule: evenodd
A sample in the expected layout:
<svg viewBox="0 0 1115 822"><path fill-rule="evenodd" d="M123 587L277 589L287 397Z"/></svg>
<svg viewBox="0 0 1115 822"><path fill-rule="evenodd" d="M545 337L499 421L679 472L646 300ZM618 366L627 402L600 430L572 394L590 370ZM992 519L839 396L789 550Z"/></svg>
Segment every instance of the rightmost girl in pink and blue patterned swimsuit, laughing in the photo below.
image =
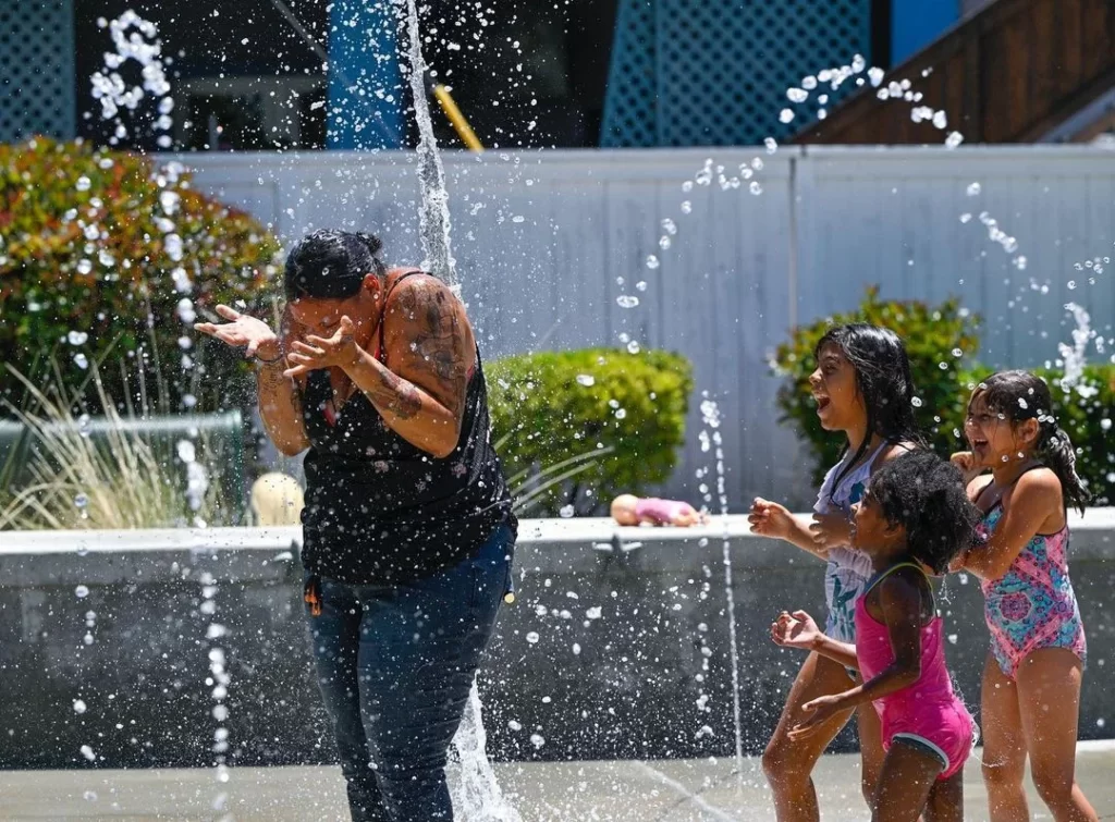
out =
<svg viewBox="0 0 1115 822"><path fill-rule="evenodd" d="M982 539L953 570L979 577L987 600L983 781L992 822L1030 818L1027 756L1054 819L1097 819L1075 779L1085 640L1067 557L1067 510L1083 513L1089 497L1051 405L1049 387L1032 374L989 377L968 404L971 451L952 457L983 515Z"/></svg>

